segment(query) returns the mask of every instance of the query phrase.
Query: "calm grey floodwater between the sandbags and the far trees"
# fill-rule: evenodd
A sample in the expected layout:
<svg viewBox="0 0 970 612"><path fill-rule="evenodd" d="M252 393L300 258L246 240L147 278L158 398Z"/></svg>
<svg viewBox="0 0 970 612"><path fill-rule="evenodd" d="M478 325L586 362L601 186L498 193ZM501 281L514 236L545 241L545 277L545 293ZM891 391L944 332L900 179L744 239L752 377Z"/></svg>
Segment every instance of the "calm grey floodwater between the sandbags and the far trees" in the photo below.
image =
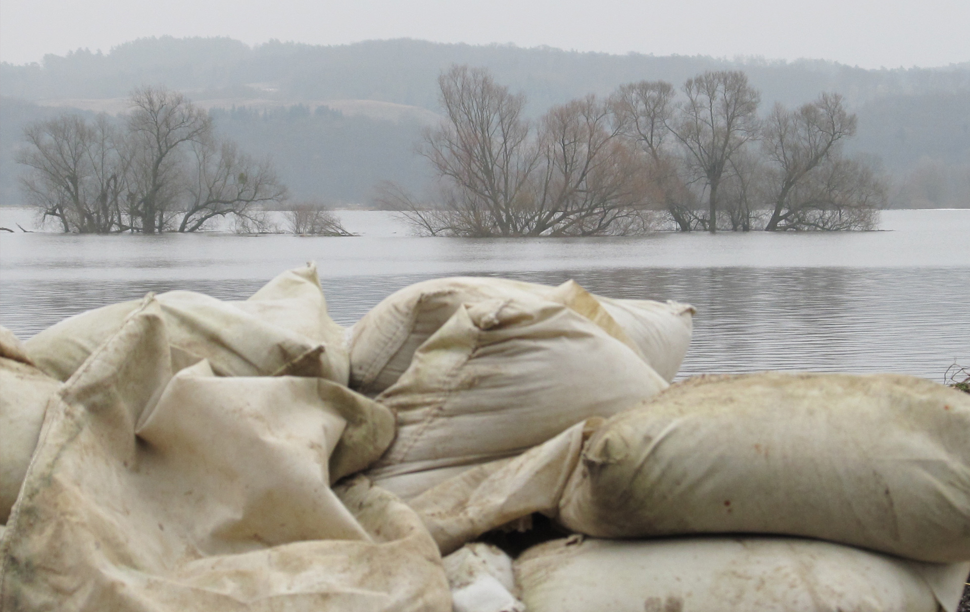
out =
<svg viewBox="0 0 970 612"><path fill-rule="evenodd" d="M427 278L574 278L607 296L695 305L682 375L897 371L939 381L954 361L970 365L970 209L885 211L879 232L536 240L414 238L386 212L339 214L361 236L3 232L0 324L28 338L148 291L242 299L315 260L345 325ZM29 229L29 220L0 209L0 226Z"/></svg>

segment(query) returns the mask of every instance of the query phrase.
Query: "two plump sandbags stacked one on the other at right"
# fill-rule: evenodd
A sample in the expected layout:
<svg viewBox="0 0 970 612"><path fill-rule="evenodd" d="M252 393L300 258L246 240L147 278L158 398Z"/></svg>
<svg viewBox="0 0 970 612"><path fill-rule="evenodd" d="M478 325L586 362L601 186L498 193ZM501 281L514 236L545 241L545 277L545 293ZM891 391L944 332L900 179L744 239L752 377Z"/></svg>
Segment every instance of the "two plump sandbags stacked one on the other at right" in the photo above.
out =
<svg viewBox="0 0 970 612"><path fill-rule="evenodd" d="M953 612L970 571L968 440L970 398L912 376L675 384L598 426L546 511L597 537L680 537L535 547L516 562L523 601L530 612ZM504 480L491 488L517 490ZM485 484L466 497L480 506ZM438 531L459 531L432 515Z"/></svg>

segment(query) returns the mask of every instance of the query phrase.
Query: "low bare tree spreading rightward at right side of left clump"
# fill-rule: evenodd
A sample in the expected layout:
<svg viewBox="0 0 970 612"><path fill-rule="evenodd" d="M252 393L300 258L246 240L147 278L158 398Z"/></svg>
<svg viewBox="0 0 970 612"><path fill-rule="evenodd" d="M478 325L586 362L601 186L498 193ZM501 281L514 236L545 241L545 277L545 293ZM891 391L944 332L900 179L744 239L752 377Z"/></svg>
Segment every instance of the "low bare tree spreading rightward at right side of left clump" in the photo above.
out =
<svg viewBox="0 0 970 612"><path fill-rule="evenodd" d="M256 162L228 141L192 143L191 182L180 207L179 232L195 232L217 216L244 215L253 206L281 202L286 187L268 161Z"/></svg>

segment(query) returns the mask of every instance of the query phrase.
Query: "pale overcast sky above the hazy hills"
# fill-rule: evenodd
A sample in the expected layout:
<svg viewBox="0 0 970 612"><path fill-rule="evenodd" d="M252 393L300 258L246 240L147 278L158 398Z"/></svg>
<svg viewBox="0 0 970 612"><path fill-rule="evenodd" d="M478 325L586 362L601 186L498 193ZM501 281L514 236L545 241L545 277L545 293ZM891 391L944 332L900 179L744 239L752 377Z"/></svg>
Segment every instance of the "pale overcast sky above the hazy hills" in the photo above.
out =
<svg viewBox="0 0 970 612"><path fill-rule="evenodd" d="M409 37L929 67L970 61L968 24L970 0L3 0L0 60L108 52L168 34L317 45Z"/></svg>

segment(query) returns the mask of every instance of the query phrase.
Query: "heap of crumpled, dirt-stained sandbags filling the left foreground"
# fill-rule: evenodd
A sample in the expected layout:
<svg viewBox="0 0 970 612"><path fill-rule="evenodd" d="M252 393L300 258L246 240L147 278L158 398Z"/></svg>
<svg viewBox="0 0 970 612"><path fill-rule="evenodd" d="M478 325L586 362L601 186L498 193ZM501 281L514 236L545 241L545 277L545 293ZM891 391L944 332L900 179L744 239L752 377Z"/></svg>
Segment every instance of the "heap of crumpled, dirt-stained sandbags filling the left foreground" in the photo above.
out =
<svg viewBox="0 0 970 612"><path fill-rule="evenodd" d="M363 478L331 488L395 423L334 380L329 340L292 329L326 320L287 323L288 307L313 311L285 304L307 276L254 296L275 304L148 296L120 322L101 310L26 346L0 335L0 423L21 419L11 407L28 430L43 419L0 530L0 608L451 609L416 513Z"/></svg>

